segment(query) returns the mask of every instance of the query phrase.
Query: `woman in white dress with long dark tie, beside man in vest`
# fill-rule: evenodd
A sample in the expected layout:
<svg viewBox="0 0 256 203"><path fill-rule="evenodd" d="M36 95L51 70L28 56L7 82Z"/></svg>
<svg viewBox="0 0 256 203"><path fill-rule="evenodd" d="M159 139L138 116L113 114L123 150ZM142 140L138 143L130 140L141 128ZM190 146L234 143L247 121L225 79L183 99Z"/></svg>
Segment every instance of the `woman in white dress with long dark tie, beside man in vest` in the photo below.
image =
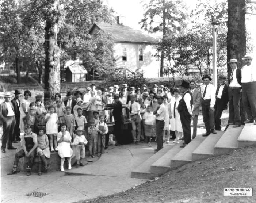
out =
<svg viewBox="0 0 256 203"><path fill-rule="evenodd" d="M174 97L172 97L169 105L169 118L171 119L171 130L175 131L175 140L173 142L179 142L179 139L182 138L182 123L180 122L180 114L178 112L179 101L182 99L182 96L179 95L179 90L173 90Z"/></svg>

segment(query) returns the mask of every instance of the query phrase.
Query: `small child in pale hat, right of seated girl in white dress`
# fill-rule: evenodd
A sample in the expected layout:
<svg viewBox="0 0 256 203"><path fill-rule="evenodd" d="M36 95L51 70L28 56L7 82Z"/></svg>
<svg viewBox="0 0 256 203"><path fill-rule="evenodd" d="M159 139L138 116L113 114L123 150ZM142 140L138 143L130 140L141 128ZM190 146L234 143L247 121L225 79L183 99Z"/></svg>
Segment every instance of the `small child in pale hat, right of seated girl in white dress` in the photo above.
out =
<svg viewBox="0 0 256 203"><path fill-rule="evenodd" d="M84 129L79 127L76 129L76 137L74 139L74 142L72 145L76 147L76 168L79 166L84 166L84 164L81 162L82 158L85 156L85 146L87 144L87 140L85 139L84 135Z"/></svg>

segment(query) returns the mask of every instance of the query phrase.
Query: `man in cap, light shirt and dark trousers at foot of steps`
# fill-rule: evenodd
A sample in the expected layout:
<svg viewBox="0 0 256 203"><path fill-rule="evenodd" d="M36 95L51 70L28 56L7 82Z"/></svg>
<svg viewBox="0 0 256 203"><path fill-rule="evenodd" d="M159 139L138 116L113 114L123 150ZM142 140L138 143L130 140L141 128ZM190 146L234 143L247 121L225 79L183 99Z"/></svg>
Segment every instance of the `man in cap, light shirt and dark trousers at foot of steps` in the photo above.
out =
<svg viewBox="0 0 256 203"><path fill-rule="evenodd" d="M156 143L157 143L157 149L155 149L155 152L158 152L160 149L163 148L163 129L164 129L164 119L167 114L166 107L164 105L164 97L162 95L157 95L157 103L159 106L157 109L153 112L154 115L156 115Z"/></svg>

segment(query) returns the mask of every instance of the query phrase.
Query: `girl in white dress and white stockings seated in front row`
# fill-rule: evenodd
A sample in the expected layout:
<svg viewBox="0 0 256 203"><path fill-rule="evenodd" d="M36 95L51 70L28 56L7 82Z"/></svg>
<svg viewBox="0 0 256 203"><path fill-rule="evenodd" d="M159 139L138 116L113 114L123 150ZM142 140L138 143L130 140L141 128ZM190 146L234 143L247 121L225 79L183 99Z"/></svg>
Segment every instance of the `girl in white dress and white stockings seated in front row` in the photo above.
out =
<svg viewBox="0 0 256 203"><path fill-rule="evenodd" d="M66 131L67 125L65 123L61 124L61 131L57 134L58 141L58 154L61 157L61 171L64 171L64 161L65 158L68 160L68 169L72 169L71 166L71 156L73 154L73 150L70 147L71 143L71 135L68 131Z"/></svg>

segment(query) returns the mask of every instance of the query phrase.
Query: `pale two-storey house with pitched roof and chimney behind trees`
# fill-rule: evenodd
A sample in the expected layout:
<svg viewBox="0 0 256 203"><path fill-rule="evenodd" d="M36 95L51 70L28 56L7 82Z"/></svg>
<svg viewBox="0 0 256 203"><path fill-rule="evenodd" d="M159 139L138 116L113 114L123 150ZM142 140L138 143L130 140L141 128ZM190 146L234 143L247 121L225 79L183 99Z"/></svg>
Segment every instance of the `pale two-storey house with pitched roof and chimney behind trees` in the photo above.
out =
<svg viewBox="0 0 256 203"><path fill-rule="evenodd" d="M127 68L134 72L143 71L144 77L158 77L160 61L154 57L156 41L141 30L134 30L123 25L122 16L118 16L117 23L94 22L89 29L93 35L97 30L111 34L114 40L114 58L116 66Z"/></svg>

